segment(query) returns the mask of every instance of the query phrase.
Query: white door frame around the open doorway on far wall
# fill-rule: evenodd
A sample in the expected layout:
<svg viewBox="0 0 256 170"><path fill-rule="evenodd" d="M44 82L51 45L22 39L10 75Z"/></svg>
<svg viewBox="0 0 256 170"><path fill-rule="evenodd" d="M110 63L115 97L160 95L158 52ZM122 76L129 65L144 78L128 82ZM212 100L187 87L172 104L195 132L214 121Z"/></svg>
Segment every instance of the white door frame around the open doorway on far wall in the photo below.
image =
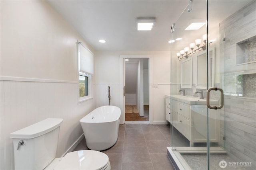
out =
<svg viewBox="0 0 256 170"><path fill-rule="evenodd" d="M126 58L137 58L137 59L148 59L148 96L149 96L149 123L153 124L153 92L152 88L150 88L150 82L152 82L152 55L120 55L119 57L119 77L120 77L120 109L122 112L122 116L120 119L120 124L124 124L125 122L125 96L124 96L124 86L125 86L125 59Z"/></svg>

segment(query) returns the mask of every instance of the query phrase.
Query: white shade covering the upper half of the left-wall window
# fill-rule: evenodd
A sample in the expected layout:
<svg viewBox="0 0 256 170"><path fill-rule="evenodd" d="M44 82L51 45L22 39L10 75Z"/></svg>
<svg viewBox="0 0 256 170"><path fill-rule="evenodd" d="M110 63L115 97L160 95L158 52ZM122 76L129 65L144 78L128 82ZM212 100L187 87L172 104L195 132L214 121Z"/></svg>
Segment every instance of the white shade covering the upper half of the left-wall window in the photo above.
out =
<svg viewBox="0 0 256 170"><path fill-rule="evenodd" d="M79 71L85 74L93 75L94 58L92 52L79 43Z"/></svg>

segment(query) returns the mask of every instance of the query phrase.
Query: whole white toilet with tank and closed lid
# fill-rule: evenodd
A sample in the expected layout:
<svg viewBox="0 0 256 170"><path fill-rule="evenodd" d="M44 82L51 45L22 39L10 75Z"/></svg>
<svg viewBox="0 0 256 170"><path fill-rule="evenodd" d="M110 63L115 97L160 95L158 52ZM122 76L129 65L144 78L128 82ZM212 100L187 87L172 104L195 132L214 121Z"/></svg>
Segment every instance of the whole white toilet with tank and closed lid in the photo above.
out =
<svg viewBox="0 0 256 170"><path fill-rule="evenodd" d="M96 150L78 150L55 158L60 123L48 118L10 134L16 170L110 170L108 156Z"/></svg>

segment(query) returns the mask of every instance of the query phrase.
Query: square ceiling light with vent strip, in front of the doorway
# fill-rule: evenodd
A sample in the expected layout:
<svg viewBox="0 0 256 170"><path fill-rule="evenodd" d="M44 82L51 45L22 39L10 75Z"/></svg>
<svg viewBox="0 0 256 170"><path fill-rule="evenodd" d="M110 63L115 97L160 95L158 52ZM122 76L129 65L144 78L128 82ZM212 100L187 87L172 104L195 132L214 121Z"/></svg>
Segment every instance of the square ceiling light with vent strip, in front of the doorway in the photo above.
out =
<svg viewBox="0 0 256 170"><path fill-rule="evenodd" d="M136 23L138 31L151 31L156 23L156 18L137 18Z"/></svg>

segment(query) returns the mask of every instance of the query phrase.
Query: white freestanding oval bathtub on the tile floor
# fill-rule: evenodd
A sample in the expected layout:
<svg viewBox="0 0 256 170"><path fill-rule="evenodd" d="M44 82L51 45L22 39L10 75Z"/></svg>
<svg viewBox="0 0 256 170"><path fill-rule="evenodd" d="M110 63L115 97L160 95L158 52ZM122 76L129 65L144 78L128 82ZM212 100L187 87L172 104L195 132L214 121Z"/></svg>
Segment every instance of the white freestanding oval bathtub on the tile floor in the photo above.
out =
<svg viewBox="0 0 256 170"><path fill-rule="evenodd" d="M86 145L91 150L112 147L118 138L121 110L116 106L101 106L80 120Z"/></svg>

